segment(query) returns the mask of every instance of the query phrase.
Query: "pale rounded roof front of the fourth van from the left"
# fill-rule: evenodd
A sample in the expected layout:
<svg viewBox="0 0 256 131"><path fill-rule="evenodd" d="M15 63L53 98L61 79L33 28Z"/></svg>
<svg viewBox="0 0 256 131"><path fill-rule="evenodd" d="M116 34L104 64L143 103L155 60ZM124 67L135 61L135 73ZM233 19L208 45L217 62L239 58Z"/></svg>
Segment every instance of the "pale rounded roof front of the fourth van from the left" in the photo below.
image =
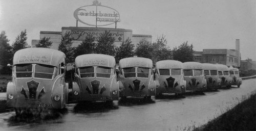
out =
<svg viewBox="0 0 256 131"><path fill-rule="evenodd" d="M182 69L183 64L180 61L175 60L164 60L156 63L157 69Z"/></svg>

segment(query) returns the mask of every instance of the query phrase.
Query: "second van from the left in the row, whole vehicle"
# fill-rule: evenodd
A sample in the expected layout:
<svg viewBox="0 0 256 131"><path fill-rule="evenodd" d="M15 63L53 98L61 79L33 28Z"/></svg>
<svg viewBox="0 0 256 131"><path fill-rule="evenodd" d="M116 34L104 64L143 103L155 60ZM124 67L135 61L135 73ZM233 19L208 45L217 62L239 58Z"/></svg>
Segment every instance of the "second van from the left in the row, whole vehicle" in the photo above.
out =
<svg viewBox="0 0 256 131"><path fill-rule="evenodd" d="M73 94L76 101L106 101L119 99L115 58L102 54L87 54L75 59Z"/></svg>

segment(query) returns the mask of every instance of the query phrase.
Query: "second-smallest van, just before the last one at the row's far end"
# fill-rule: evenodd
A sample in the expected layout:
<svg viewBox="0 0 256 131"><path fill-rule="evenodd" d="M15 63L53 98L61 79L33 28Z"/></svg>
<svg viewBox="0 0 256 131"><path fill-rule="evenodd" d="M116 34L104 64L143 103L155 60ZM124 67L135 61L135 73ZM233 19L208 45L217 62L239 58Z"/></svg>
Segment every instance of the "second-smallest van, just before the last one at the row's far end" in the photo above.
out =
<svg viewBox="0 0 256 131"><path fill-rule="evenodd" d="M221 79L221 86L231 87L232 78L229 74L229 68L226 65L216 64L219 78Z"/></svg>

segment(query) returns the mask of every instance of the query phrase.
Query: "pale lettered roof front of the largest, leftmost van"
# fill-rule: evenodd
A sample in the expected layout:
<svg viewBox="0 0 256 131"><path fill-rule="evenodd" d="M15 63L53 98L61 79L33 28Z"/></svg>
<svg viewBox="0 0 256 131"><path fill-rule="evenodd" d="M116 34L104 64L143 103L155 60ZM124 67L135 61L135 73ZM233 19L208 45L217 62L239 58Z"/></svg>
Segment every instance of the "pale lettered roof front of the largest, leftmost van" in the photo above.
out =
<svg viewBox="0 0 256 131"><path fill-rule="evenodd" d="M66 55L59 50L50 48L24 48L16 51L13 56L13 65L16 64L45 64L58 66Z"/></svg>

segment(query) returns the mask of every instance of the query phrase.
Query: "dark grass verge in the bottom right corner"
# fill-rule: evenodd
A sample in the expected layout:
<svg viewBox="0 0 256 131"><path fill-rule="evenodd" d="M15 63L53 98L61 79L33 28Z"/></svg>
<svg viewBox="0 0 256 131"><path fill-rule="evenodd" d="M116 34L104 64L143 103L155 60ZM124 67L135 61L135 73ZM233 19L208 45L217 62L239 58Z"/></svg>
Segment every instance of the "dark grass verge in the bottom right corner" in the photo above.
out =
<svg viewBox="0 0 256 131"><path fill-rule="evenodd" d="M256 94L236 107L194 130L256 130Z"/></svg>

